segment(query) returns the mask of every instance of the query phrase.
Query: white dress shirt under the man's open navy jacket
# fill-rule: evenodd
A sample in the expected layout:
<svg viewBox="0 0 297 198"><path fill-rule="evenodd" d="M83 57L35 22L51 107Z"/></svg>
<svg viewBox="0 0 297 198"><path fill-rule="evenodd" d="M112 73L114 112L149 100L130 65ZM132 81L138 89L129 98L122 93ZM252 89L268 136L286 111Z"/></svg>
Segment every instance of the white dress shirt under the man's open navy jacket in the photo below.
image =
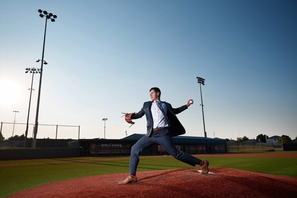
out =
<svg viewBox="0 0 297 198"><path fill-rule="evenodd" d="M167 106L164 103L162 103L161 100L157 100L157 101L165 111L165 114L167 114ZM159 107L156 104L156 100L153 101L153 103L151 104L151 114L153 116L154 129L157 129L159 127L168 127L168 124L164 118L162 111L159 109Z"/></svg>

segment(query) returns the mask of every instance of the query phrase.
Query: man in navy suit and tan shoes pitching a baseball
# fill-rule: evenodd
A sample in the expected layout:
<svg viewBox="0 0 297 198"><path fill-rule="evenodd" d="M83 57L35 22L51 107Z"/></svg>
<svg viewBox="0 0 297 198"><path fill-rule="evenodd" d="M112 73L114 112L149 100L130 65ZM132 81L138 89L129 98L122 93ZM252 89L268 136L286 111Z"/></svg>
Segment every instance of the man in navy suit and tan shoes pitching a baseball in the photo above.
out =
<svg viewBox="0 0 297 198"><path fill-rule="evenodd" d="M200 165L202 172L200 174L208 174L208 161L200 160L193 157L190 154L180 152L176 149L171 137L185 134L186 131L181 123L178 121L176 114L186 110L193 100L189 100L187 105L179 108L172 108L167 102L160 100L161 91L158 87L150 89L150 97L152 101L143 103L141 110L133 114L131 119L141 118L146 115L146 135L138 140L138 142L132 146L130 156L130 175L119 184L127 184L137 181L136 169L139 162L139 153L155 143L163 146L166 151L172 155L175 159L178 159L184 163L192 165Z"/></svg>

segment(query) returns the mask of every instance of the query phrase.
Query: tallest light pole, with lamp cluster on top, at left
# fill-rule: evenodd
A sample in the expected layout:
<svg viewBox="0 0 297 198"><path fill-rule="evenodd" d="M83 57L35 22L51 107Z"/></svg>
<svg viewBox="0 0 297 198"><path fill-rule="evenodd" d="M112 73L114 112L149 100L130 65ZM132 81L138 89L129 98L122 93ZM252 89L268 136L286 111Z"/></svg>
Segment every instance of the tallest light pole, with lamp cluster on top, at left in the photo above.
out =
<svg viewBox="0 0 297 198"><path fill-rule="evenodd" d="M37 135L37 129L38 129L38 113L39 113L39 102L40 102L40 89L41 89L41 78L42 78L42 68L43 68L43 62L46 65L46 62L43 60L44 58L44 45L45 45L45 33L46 33L46 23L48 19L50 19L52 22L55 22L55 19L57 18L57 15L53 15L52 13L48 13L47 11L42 11L41 9L38 10L40 13L40 17L45 17L45 29L44 29L44 39L43 39L43 48L42 48L42 58L41 58L41 68L40 68L40 80L39 80L39 89L38 89L38 98L37 98L37 109L36 109L36 117L35 117L35 128L34 128L34 138L33 138L33 145L32 148L36 147L36 135ZM43 14L42 14L43 13ZM39 62L38 60L37 62Z"/></svg>

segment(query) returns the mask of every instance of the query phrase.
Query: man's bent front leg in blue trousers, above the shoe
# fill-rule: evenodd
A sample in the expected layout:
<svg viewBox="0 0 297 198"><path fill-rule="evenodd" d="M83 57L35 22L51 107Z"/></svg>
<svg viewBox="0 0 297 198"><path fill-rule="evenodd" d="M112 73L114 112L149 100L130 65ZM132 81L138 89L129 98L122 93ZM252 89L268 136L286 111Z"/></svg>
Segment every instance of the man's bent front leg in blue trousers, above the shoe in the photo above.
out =
<svg viewBox="0 0 297 198"><path fill-rule="evenodd" d="M143 150L146 149L150 146L152 146L153 144L155 144L153 137L146 137L144 136L143 138L141 138L140 140L138 140L138 142L136 142L136 144L134 144L132 146L131 149L131 156L130 156L130 175L135 176L136 175L136 169L138 166L138 162L139 162L139 153Z"/></svg>

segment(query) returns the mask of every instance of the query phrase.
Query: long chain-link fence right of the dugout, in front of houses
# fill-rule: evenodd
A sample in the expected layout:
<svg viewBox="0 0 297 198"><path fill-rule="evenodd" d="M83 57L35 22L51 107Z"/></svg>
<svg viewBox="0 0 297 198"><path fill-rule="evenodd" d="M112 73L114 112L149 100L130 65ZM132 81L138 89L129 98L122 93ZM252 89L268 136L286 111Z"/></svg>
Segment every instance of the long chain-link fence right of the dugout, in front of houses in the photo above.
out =
<svg viewBox="0 0 297 198"><path fill-rule="evenodd" d="M282 143L227 143L228 153L283 151Z"/></svg>

